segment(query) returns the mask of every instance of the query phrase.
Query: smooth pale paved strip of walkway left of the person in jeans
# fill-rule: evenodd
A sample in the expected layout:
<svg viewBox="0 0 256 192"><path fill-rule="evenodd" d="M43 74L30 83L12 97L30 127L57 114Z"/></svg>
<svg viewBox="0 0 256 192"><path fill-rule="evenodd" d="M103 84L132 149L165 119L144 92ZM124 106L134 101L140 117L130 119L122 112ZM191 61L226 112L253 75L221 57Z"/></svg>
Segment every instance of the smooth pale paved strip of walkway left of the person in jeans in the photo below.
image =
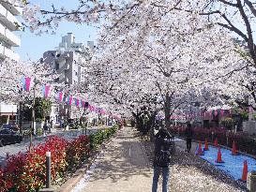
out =
<svg viewBox="0 0 256 192"><path fill-rule="evenodd" d="M151 191L152 172L131 127L124 127L116 139L106 146L84 192Z"/></svg>

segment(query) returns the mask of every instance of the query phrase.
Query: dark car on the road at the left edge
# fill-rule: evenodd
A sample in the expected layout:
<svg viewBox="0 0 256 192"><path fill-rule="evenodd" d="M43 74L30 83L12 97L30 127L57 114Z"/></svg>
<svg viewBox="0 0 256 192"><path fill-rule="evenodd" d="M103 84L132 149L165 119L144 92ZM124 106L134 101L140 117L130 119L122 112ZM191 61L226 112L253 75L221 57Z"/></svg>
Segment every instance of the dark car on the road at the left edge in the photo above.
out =
<svg viewBox="0 0 256 192"><path fill-rule="evenodd" d="M17 131L9 128L0 130L0 146L5 146L12 143L20 143L23 140L23 136L19 135Z"/></svg>

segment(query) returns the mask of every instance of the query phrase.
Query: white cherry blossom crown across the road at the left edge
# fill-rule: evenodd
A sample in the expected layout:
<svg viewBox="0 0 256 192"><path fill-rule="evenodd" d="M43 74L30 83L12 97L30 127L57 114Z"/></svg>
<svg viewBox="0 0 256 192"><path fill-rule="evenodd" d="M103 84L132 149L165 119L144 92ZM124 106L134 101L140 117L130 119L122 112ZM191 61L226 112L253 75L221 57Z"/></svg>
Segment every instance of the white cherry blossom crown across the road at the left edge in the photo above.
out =
<svg viewBox="0 0 256 192"><path fill-rule="evenodd" d="M34 97L34 94L42 96L42 85L48 83L53 87L57 86L53 80L58 75L43 60L23 63L5 59L1 62L0 74L3 89L2 100L17 102L22 99L22 96ZM31 78L30 91L23 90L22 79L24 77Z"/></svg>

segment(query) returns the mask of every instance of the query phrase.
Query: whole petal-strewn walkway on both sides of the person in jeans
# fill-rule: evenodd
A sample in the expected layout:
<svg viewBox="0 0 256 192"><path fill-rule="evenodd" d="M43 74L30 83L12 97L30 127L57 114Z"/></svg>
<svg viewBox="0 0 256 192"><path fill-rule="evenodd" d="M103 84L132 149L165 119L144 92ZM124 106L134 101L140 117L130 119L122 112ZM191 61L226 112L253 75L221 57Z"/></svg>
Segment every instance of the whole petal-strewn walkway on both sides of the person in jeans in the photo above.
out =
<svg viewBox="0 0 256 192"><path fill-rule="evenodd" d="M74 192L150 192L153 170L150 167L154 144L135 137L131 127L120 130L97 159L95 170L86 175L82 189ZM238 192L243 185L215 169L200 157L184 152L184 141L177 143L177 153L170 171L169 192ZM158 184L161 191L161 179Z"/></svg>

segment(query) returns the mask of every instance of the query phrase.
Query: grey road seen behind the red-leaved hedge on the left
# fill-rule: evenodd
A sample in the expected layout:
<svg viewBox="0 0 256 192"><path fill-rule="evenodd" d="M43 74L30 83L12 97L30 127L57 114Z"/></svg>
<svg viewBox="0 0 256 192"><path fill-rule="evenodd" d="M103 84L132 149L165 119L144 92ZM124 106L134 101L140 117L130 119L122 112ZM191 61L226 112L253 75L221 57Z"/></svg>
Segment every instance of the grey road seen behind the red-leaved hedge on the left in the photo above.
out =
<svg viewBox="0 0 256 192"><path fill-rule="evenodd" d="M102 129L106 126L93 126L87 128L87 135L90 133L97 132L98 129ZM62 130L55 130L51 136L56 135L59 137L63 137L68 140L72 140L74 138L77 138L79 135L83 133L83 130L68 130L68 131L62 131ZM38 137L33 139L33 145L38 145L39 143L43 143L45 140L47 140L47 137ZM29 139L24 139L21 143L16 143L16 144L10 144L6 145L4 147L0 147L0 166L4 167L5 166L5 161L6 161L6 156L7 153L9 155L15 155L18 154L19 152L26 152L28 147L29 147L30 141Z"/></svg>

